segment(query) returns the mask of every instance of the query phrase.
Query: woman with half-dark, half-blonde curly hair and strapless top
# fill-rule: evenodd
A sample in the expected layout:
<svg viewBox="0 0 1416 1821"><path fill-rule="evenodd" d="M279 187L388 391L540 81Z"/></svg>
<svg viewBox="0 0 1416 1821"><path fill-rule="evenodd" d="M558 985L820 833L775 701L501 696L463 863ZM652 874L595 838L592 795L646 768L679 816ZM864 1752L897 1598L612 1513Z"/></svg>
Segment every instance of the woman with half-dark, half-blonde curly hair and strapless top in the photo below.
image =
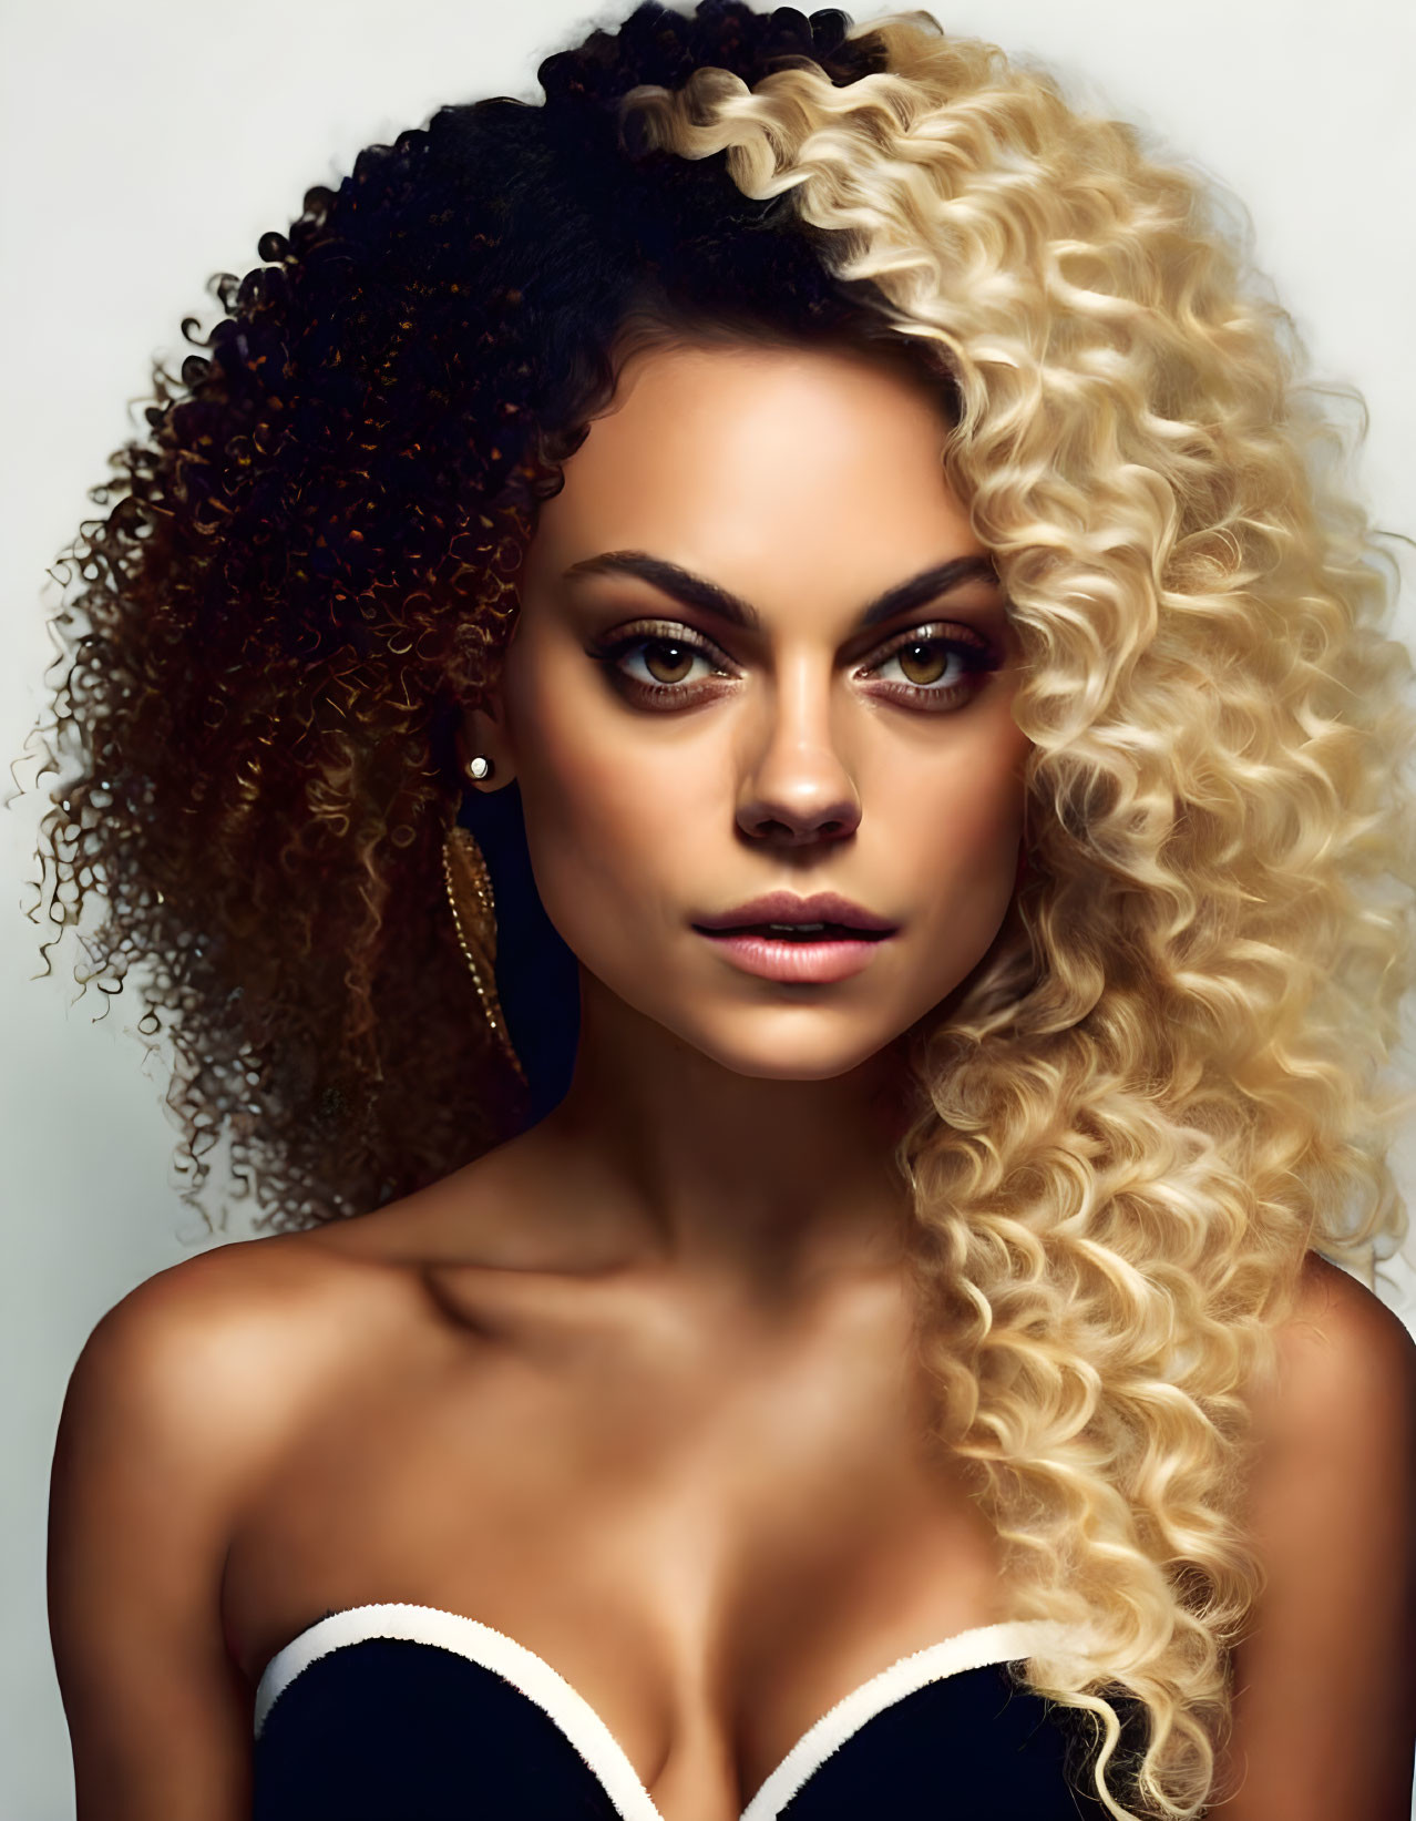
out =
<svg viewBox="0 0 1416 1821"><path fill-rule="evenodd" d="M1394 1821L1411 666L1281 322L923 15L541 78L82 554L51 914L286 1231L75 1369L80 1821Z"/></svg>

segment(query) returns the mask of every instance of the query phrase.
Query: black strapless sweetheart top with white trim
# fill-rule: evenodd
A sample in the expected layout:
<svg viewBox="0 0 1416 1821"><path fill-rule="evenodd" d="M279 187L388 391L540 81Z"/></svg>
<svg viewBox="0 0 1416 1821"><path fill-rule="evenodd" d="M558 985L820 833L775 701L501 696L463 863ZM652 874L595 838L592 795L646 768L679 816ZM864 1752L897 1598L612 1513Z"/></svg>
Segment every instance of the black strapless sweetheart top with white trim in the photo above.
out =
<svg viewBox="0 0 1416 1821"><path fill-rule="evenodd" d="M901 1657L810 1726L741 1821L1103 1821L1063 1772L1059 1710L1006 1664L1050 1621ZM664 1821L548 1663L437 1606L351 1606L266 1664L253 1821Z"/></svg>

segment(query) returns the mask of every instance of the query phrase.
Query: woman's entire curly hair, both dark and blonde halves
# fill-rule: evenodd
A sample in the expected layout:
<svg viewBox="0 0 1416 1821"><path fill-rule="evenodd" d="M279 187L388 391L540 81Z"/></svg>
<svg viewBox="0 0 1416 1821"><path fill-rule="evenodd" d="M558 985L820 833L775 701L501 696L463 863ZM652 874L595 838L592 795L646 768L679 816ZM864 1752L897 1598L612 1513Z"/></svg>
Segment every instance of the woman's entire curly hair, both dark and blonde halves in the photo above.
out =
<svg viewBox="0 0 1416 1821"><path fill-rule="evenodd" d="M102 885L80 978L151 969L195 1187L226 1134L298 1227L486 1151L528 1105L440 901L453 727L626 326L906 361L1032 741L1027 881L910 1033L921 1348L1019 1615L1085 1637L1028 1683L1110 1814L1194 1817L1261 1584L1245 1389L1307 1251L1405 1233L1394 566L1216 195L1047 73L703 0L539 75L311 189L155 371L58 615L49 918Z"/></svg>

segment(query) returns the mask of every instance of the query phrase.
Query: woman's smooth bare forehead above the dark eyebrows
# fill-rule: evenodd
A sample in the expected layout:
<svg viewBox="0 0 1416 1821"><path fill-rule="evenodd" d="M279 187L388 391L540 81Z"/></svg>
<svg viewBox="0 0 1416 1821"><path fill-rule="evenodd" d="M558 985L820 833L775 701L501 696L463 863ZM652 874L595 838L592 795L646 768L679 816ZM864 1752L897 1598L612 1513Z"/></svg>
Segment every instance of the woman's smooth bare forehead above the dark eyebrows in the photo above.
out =
<svg viewBox="0 0 1416 1821"><path fill-rule="evenodd" d="M943 475L948 430L923 382L868 355L653 348L566 461L537 543L562 563L652 550L730 586L783 563L885 586L983 548Z"/></svg>

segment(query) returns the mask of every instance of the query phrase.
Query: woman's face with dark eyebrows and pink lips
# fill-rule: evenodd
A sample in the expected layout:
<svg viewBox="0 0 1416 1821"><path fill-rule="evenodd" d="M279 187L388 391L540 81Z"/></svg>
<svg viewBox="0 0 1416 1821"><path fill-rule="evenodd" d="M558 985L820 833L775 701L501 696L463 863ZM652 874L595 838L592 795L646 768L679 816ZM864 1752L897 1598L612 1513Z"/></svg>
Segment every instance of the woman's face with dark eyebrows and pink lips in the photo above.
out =
<svg viewBox="0 0 1416 1821"><path fill-rule="evenodd" d="M852 353L635 355L541 510L495 719L468 727L521 783L584 969L741 1074L855 1067L1014 892L1017 648L946 435ZM885 931L852 940L857 916ZM803 920L826 929L764 929Z"/></svg>

